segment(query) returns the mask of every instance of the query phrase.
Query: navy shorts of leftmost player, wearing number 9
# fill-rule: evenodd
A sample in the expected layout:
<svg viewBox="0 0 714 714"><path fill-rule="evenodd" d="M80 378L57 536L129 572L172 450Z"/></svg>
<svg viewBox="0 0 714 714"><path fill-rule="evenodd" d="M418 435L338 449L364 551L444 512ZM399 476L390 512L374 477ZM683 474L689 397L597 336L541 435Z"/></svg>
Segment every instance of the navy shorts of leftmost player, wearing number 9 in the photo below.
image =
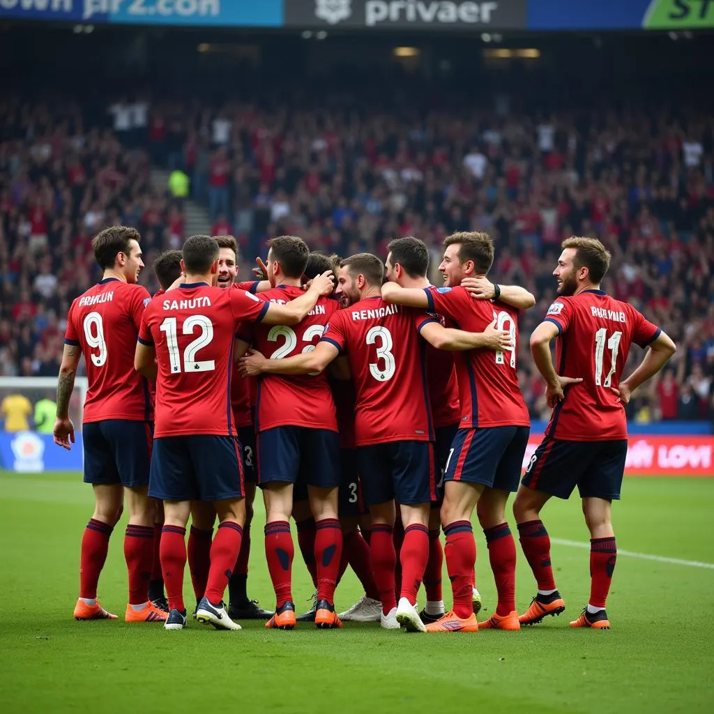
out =
<svg viewBox="0 0 714 714"><path fill-rule="evenodd" d="M146 486L153 441L150 421L106 419L83 424L84 483Z"/></svg>

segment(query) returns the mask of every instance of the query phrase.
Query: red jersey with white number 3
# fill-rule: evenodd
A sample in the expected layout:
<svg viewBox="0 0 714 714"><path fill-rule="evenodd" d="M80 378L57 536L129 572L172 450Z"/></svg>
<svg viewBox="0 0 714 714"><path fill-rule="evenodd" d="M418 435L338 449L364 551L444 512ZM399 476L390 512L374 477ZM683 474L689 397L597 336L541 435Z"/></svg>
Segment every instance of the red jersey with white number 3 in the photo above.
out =
<svg viewBox="0 0 714 714"><path fill-rule="evenodd" d="M357 393L356 446L433 441L426 342L433 316L375 296L336 312L323 340L346 352Z"/></svg>

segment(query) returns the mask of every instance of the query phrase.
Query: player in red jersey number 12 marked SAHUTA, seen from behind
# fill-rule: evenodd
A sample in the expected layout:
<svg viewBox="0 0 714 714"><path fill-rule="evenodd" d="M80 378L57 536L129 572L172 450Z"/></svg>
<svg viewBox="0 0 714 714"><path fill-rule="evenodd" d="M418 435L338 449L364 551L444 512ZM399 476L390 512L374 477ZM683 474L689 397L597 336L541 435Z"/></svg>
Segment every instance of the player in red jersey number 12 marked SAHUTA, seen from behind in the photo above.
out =
<svg viewBox="0 0 714 714"><path fill-rule="evenodd" d="M309 291L286 306L261 301L246 291L221 290L215 286L218 254L218 243L210 236L188 238L182 262L186 283L151 303L134 356L137 371L156 376L149 493L164 501L161 567L171 608L166 629L186 625L183 570L193 500L211 501L220 521L196 619L218 629L240 629L222 601L245 521L243 460L230 402L236 326L261 320L296 324L321 291L331 287L328 276L319 276Z"/></svg>

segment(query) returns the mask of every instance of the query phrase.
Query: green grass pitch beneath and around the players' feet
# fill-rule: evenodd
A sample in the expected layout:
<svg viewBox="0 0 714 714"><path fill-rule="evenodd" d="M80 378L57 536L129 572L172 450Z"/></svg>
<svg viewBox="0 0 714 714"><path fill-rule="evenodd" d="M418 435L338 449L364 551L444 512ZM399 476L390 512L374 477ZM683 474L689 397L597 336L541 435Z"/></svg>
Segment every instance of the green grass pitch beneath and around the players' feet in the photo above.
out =
<svg viewBox="0 0 714 714"><path fill-rule="evenodd" d="M615 506L620 548L714 562L714 479L631 478ZM253 597L268 605L261 558L263 514L254 525ZM191 621L159 625L76 623L79 539L91 490L73 474L0 473L0 712L324 712L463 710L518 712L698 712L712 705L714 570L620 555L607 632L571 630L588 598L588 551L553 546L568 610L520 633L407 635L374 625L240 633ZM553 538L585 542L578 501L543 514ZM100 581L104 605L126 606L126 570L116 529ZM478 587L491 612L495 588L478 531ZM298 560L294 595L307 605ZM444 577L446 590L448 578ZM190 580L186 578L187 595ZM523 558L518 606L535 592ZM351 574L338 607L361 593ZM448 593L446 593L448 599Z"/></svg>

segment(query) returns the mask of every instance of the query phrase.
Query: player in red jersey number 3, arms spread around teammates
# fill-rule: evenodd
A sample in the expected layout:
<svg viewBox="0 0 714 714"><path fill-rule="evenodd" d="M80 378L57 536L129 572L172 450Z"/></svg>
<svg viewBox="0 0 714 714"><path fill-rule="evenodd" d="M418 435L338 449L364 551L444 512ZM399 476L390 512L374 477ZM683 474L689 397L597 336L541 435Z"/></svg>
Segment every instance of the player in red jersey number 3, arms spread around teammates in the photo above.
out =
<svg viewBox="0 0 714 714"><path fill-rule="evenodd" d="M380 297L383 263L370 253L341 261L338 296L350 307L336 312L313 351L266 360L241 360L248 373L303 374L323 371L347 353L356 393L355 443L363 496L372 516L370 555L382 603L381 625L424 632L416 593L428 558L429 504L435 496L433 426L426 388L423 343L468 349L483 335L446 330L420 311L389 306ZM394 501L405 526L403 579L397 604L396 553L392 541Z"/></svg>

